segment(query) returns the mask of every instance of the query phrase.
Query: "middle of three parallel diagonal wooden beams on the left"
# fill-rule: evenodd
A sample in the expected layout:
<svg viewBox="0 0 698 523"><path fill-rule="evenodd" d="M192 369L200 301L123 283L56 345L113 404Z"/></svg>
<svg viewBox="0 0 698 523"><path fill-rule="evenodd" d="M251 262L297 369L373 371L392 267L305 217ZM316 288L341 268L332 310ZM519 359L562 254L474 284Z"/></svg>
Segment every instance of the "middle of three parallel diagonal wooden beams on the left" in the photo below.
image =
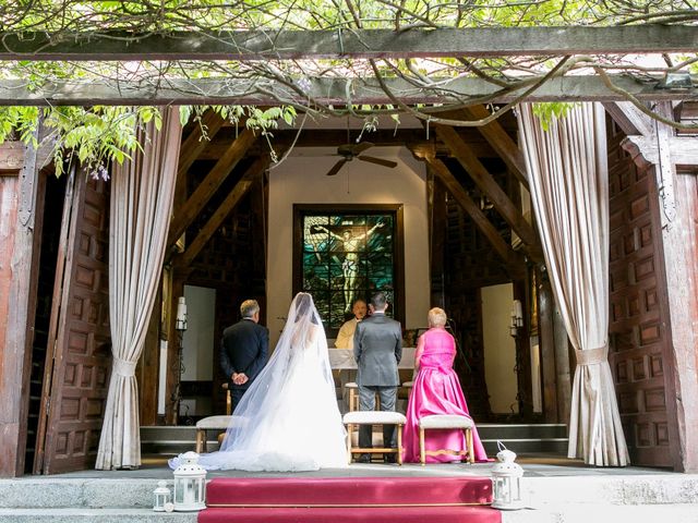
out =
<svg viewBox="0 0 698 523"><path fill-rule="evenodd" d="M203 182L196 187L194 194L184 206L174 215L174 221L170 226L170 234L167 241L168 251L177 242L194 218L201 212L210 197L216 193L220 184L232 172L238 162L244 157L256 136L254 132L245 129L238 138L230 144L226 154L218 160Z"/></svg>

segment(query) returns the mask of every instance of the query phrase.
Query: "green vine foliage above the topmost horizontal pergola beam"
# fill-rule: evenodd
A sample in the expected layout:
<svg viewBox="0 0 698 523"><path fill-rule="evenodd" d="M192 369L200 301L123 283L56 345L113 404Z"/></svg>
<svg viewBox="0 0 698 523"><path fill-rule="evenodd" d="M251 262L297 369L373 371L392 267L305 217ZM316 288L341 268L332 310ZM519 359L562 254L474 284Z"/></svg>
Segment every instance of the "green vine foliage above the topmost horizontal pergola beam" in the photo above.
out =
<svg viewBox="0 0 698 523"><path fill-rule="evenodd" d="M613 25L627 21L686 20L689 0L113 0L83 2L5 0L3 31L101 32L106 27L143 33L364 28L410 26ZM681 16L684 15L684 19ZM694 19L695 20L695 19Z"/></svg>

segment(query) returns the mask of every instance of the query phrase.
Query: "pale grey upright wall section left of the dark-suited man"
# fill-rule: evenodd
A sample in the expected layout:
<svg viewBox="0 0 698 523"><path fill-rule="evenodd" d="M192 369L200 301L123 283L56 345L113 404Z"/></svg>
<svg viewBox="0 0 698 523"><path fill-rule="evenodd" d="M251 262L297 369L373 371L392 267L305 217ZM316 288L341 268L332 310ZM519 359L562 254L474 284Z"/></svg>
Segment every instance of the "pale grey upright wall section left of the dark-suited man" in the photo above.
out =
<svg viewBox="0 0 698 523"><path fill-rule="evenodd" d="M184 285L186 331L182 340L182 381L213 380L216 290Z"/></svg>

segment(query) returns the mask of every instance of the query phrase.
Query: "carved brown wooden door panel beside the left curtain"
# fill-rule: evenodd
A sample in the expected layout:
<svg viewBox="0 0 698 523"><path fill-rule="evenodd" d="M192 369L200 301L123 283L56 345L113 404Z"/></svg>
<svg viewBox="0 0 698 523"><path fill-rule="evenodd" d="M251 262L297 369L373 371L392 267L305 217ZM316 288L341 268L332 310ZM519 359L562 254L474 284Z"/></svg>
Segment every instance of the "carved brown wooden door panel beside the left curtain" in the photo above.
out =
<svg viewBox="0 0 698 523"><path fill-rule="evenodd" d="M63 212L35 473L95 464L111 366L109 193L73 172ZM70 186L73 185L71 191Z"/></svg>

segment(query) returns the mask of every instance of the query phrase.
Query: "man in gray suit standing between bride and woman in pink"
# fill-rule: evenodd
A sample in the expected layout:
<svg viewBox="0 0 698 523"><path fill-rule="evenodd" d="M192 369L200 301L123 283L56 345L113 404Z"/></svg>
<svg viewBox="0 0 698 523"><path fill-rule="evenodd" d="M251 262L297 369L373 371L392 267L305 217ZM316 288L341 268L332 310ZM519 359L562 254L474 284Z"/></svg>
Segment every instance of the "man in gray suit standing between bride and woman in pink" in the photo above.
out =
<svg viewBox="0 0 698 523"><path fill-rule="evenodd" d="M397 364L402 357L402 329L400 323L385 315L388 302L385 294L377 292L371 299L373 314L357 324L353 335L353 357L357 360L359 386L359 409L373 411L375 394L381 398L382 411L395 411L397 388L400 377ZM395 426L383 426L383 445L394 447ZM362 425L359 429L359 446L372 447L371 426ZM390 454L390 458L393 455ZM368 454L359 461L368 462ZM386 461L389 461L386 459Z"/></svg>

